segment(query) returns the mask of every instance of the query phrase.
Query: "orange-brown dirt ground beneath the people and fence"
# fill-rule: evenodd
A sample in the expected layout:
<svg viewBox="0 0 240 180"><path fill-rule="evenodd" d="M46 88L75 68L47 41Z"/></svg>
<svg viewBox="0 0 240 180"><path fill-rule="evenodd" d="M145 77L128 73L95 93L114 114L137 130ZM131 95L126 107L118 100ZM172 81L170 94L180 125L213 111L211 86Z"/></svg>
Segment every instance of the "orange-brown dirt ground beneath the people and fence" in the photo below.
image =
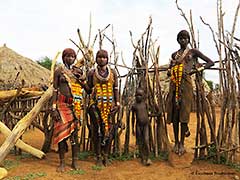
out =
<svg viewBox="0 0 240 180"><path fill-rule="evenodd" d="M193 161L193 149L195 144L196 115L191 114L191 136L186 138L187 153L181 157L171 153L169 161L153 160L151 166L145 167L139 159L128 161L113 161L110 166L102 169L96 168L94 158L89 157L79 160L80 171L71 171L71 151L66 155L67 171L57 173L58 154L50 152L45 159L39 160L32 156L15 156L10 153L5 158L5 168L8 168L8 176L5 179L104 179L104 180L217 180L239 179L240 172L229 166L212 164L206 161ZM172 126L168 125L169 136L173 139ZM131 137L132 138L132 137ZM0 134L0 144L3 142ZM43 143L43 134L37 130L29 130L23 135L24 142L40 148ZM131 140L132 144L134 138ZM173 141L171 141L173 143Z"/></svg>

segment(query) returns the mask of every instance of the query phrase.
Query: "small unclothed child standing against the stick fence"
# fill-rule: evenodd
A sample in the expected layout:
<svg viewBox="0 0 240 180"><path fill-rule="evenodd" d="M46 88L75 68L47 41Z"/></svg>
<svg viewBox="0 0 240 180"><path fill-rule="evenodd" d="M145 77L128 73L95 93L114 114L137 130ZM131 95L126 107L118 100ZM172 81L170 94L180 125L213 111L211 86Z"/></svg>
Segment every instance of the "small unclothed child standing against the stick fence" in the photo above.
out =
<svg viewBox="0 0 240 180"><path fill-rule="evenodd" d="M136 102L132 106L132 134L135 136L134 124L136 116L136 141L139 147L141 162L149 166L149 119L147 106L144 101L144 90L138 88L136 91Z"/></svg>

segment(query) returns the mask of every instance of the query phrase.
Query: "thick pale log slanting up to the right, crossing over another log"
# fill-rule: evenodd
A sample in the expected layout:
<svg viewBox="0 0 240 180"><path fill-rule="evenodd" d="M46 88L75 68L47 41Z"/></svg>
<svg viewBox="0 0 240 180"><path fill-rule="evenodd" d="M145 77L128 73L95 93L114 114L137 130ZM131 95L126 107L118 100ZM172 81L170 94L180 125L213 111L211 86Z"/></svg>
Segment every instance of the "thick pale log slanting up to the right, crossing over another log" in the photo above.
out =
<svg viewBox="0 0 240 180"><path fill-rule="evenodd" d="M52 97L52 94L53 87L51 86L38 100L37 104L33 107L33 109L16 124L11 134L6 138L5 142L0 147L0 163L7 156L11 148L16 144L17 140L22 136L26 128L37 117L42 107Z"/></svg>

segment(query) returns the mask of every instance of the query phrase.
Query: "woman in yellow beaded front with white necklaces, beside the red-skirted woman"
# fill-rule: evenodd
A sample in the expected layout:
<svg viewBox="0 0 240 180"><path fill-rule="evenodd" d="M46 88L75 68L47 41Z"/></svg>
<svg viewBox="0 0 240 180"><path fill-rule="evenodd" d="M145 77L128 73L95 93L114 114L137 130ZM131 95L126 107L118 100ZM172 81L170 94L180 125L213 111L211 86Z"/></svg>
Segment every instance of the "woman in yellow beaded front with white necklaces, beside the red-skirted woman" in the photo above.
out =
<svg viewBox="0 0 240 180"><path fill-rule="evenodd" d="M96 165L107 165L111 145L111 117L119 110L118 77L108 65L108 52L99 50L96 54L97 67L88 73L87 84L83 86L91 101L88 107L93 128L93 144Z"/></svg>

